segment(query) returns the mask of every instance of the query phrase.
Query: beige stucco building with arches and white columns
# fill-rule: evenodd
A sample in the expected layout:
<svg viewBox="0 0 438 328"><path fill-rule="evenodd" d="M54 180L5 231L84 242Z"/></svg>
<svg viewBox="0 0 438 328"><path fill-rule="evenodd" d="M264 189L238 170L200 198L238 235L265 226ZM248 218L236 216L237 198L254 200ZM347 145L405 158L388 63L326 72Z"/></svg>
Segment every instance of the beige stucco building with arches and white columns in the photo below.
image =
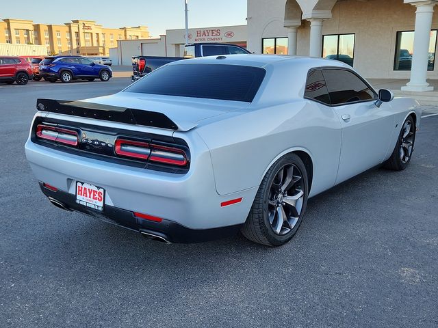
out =
<svg viewBox="0 0 438 328"><path fill-rule="evenodd" d="M438 0L248 0L248 50L329 57L374 79L433 88ZM414 51L415 49L415 51Z"/></svg>

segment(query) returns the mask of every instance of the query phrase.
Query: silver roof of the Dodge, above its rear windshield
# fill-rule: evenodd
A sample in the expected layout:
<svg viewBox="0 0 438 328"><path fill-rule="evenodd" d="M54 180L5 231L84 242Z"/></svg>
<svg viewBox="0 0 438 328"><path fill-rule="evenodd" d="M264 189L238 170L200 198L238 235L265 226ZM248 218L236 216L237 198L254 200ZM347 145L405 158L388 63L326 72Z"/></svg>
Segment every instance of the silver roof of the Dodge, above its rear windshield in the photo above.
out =
<svg viewBox="0 0 438 328"><path fill-rule="evenodd" d="M169 65L183 65L183 64L229 64L240 66L254 66L265 68L266 66L277 66L280 64L287 64L291 66L305 66L307 68L324 67L324 66L339 66L351 68L348 64L342 61L323 59L316 57L302 57L292 55L218 55L209 57L197 57L192 59L185 59L173 61Z"/></svg>

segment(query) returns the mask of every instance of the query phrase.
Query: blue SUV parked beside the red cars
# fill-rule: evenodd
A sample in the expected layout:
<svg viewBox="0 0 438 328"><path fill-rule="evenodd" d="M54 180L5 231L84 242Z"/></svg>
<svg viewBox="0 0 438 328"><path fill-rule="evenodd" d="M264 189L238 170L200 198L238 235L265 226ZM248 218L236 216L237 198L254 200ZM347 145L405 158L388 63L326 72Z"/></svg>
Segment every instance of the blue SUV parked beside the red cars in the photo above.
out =
<svg viewBox="0 0 438 328"><path fill-rule="evenodd" d="M95 64L86 57L54 56L42 59L38 75L49 82L56 82L57 79L63 83L77 79L93 81L97 78L109 81L112 70L108 66Z"/></svg>

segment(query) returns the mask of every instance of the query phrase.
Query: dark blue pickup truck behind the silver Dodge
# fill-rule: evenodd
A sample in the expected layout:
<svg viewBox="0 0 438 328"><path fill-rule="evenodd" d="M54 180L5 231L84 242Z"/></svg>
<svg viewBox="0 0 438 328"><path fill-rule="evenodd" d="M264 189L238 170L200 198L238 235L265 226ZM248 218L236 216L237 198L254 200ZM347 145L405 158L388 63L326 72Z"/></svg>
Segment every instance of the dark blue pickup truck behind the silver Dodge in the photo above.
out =
<svg viewBox="0 0 438 328"><path fill-rule="evenodd" d="M242 46L227 43L195 43L188 44L184 49L184 57L133 56L131 81L137 81L144 75L172 61L194 57L237 55L250 53Z"/></svg>

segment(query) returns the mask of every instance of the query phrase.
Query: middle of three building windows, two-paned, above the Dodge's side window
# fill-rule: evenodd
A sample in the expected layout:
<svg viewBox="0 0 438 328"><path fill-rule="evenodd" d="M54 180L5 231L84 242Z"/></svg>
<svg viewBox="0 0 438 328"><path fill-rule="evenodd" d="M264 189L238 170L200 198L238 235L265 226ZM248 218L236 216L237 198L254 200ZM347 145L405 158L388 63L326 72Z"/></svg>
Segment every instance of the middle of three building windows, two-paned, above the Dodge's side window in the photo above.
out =
<svg viewBox="0 0 438 328"><path fill-rule="evenodd" d="M322 37L322 57L353 66L355 34L336 34Z"/></svg>

